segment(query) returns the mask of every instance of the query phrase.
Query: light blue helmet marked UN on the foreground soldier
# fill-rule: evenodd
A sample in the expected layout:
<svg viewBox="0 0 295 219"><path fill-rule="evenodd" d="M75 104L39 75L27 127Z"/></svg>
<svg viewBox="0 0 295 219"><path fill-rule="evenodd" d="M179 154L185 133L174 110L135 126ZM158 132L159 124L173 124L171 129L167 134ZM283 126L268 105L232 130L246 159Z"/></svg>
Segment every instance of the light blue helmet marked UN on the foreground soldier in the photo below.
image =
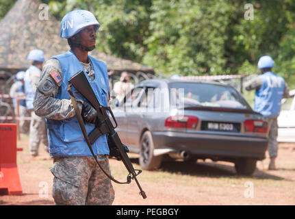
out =
<svg viewBox="0 0 295 219"><path fill-rule="evenodd" d="M97 29L101 26L97 18L86 10L73 10L68 12L60 23L60 37L70 38L77 34L84 27L96 25Z"/></svg>

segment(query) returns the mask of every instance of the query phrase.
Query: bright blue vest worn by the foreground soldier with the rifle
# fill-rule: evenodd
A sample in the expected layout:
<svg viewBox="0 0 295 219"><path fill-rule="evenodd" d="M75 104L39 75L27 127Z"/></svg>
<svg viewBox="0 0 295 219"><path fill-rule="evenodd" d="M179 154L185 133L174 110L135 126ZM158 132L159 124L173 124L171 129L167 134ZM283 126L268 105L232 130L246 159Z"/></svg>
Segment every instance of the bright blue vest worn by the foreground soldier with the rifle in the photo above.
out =
<svg viewBox="0 0 295 219"><path fill-rule="evenodd" d="M80 70L83 70L90 82L94 94L99 100L99 103L107 106L107 91L109 89L107 66L103 62L96 60L89 55L88 57L90 58L90 62L92 62L92 66L94 68L95 78L93 81L91 81L87 73L85 73L84 67L72 51L52 57L59 60L60 65L62 66L62 84L60 86L60 92L55 96L55 98L69 100L70 94L68 94L68 91L66 90L68 87L68 79ZM86 101L86 99L74 87L72 87L72 91L75 94L76 99ZM49 140L49 153L51 157L92 155L86 141L84 140L77 116L65 120L53 120L47 118L46 122ZM93 124L85 124L85 127L88 134L95 128ZM106 135L99 137L96 142L92 144L92 150L94 155L108 155L110 153Z"/></svg>

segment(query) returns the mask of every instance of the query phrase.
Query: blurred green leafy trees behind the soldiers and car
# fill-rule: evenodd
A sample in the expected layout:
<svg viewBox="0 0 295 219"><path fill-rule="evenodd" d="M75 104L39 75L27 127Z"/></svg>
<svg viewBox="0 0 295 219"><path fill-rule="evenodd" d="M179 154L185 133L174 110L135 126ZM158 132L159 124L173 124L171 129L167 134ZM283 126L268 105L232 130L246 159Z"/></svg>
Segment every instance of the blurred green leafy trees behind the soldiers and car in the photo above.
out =
<svg viewBox="0 0 295 219"><path fill-rule="evenodd" d="M15 0L0 0L0 18ZM58 21L90 10L101 28L97 48L168 75L259 74L271 55L274 73L295 88L295 0L42 0ZM254 19L244 18L253 4Z"/></svg>

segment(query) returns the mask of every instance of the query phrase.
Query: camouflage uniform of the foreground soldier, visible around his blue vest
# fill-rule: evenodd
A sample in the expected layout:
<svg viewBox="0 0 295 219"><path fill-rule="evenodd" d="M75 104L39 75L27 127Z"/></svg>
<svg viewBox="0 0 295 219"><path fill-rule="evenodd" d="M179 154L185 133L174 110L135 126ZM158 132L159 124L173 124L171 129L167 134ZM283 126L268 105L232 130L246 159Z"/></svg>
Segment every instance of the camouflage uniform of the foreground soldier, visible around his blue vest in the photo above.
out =
<svg viewBox="0 0 295 219"><path fill-rule="evenodd" d="M94 79L92 64L84 64L90 79ZM60 62L48 60L42 70L42 77L34 98L34 109L40 116L63 120L75 116L70 100L55 99L60 91L60 83L55 83L49 75L56 70L62 77ZM82 105L78 103L79 110ZM101 166L109 172L107 155L97 155ZM54 157L51 172L54 175L52 196L56 205L112 205L114 189L93 157Z"/></svg>

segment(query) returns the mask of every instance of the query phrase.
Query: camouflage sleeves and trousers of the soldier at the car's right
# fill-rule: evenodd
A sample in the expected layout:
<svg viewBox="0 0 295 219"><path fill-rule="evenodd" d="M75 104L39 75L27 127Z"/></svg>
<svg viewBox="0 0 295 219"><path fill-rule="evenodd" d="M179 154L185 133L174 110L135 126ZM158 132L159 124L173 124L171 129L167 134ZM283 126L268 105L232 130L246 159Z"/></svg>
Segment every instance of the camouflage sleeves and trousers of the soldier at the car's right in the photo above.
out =
<svg viewBox="0 0 295 219"><path fill-rule="evenodd" d="M262 80L259 77L255 77L251 81L248 81L245 84L246 90L259 90L262 86ZM287 86L287 83L284 84L284 92L283 97L286 98L289 96L289 87ZM268 121L268 126L270 127L269 133L268 133L268 154L270 155L270 158L277 157L278 153L278 142L277 142L277 136L278 136L278 125L277 125L277 116L273 117L265 117L266 121Z"/></svg>

